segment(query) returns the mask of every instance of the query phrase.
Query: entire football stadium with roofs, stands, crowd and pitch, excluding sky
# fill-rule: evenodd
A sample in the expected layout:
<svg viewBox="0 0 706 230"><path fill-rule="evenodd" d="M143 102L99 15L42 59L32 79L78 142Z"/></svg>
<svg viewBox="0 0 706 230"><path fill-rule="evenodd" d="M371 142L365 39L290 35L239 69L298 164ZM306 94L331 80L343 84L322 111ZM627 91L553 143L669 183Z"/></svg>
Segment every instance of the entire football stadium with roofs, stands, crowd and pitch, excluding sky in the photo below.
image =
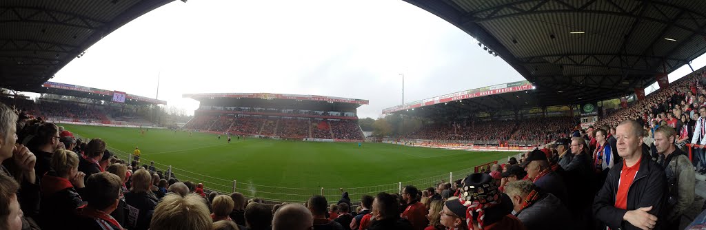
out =
<svg viewBox="0 0 706 230"><path fill-rule="evenodd" d="M706 3L405 0L524 80L405 102L400 73L402 104L203 74L164 89L187 111L159 76L54 78L175 4L0 3L0 229L706 226ZM301 81L374 83L340 78Z"/></svg>

